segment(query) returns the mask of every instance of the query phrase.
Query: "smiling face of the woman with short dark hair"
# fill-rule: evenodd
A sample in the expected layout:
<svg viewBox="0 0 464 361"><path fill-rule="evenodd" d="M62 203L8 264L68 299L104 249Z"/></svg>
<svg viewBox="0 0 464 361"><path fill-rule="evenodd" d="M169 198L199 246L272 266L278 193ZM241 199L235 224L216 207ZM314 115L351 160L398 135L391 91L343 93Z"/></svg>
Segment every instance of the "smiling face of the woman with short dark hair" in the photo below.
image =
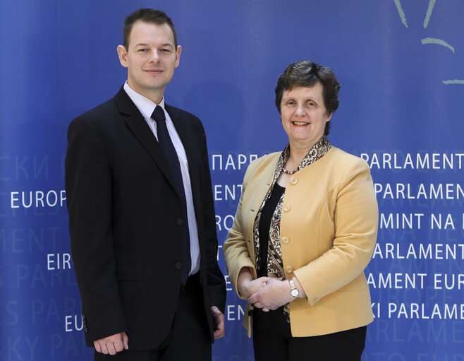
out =
<svg viewBox="0 0 464 361"><path fill-rule="evenodd" d="M331 116L332 114L326 114L321 83L316 83L311 88L298 87L283 91L282 125L291 146L314 146L324 135L325 124Z"/></svg>

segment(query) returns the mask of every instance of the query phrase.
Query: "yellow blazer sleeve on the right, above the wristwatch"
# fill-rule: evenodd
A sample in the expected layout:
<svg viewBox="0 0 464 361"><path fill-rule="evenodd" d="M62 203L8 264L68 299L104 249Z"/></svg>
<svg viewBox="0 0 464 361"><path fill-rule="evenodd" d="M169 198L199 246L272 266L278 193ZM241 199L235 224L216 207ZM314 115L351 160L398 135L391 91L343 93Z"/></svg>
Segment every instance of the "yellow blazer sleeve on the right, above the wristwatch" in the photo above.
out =
<svg viewBox="0 0 464 361"><path fill-rule="evenodd" d="M294 271L310 304L360 276L377 240L379 211L367 163L357 159L350 164L334 191L333 247Z"/></svg>

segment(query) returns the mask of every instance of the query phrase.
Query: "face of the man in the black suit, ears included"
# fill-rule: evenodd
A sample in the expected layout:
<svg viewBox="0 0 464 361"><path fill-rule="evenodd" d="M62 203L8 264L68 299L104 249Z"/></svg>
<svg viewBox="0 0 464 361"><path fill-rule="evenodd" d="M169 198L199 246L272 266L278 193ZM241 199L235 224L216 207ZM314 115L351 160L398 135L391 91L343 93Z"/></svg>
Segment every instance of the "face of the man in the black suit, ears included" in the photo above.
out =
<svg viewBox="0 0 464 361"><path fill-rule="evenodd" d="M128 49L118 46L119 61L128 69L130 88L157 103L179 65L181 51L181 46L175 48L168 24L142 21L133 24Z"/></svg>

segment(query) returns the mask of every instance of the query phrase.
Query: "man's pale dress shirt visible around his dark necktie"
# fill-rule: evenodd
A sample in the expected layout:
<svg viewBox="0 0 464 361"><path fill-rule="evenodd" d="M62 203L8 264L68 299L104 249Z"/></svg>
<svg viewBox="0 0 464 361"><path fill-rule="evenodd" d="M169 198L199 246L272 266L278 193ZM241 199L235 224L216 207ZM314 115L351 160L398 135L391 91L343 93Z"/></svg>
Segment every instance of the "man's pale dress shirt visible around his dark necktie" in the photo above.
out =
<svg viewBox="0 0 464 361"><path fill-rule="evenodd" d="M177 134L176 127L174 126L171 117L169 117L168 112L164 109L164 97L159 102L155 104L152 100L149 100L147 97L137 93L135 90L130 88L127 81L124 84L124 90L126 90L127 95L134 102L135 106L138 107L140 113L145 118L154 136L158 139L157 134L157 122L152 119L152 114L154 108L159 105L164 110L164 115L166 117L166 127L171 137L174 148L176 148L177 157L181 165L182 180L183 180L183 189L185 191L185 201L187 203L187 218L188 218L188 232L190 234L190 256L192 258L192 264L190 267L190 275L197 273L200 269L200 246L198 243L198 230L197 230L197 219L195 218L195 209L193 208L193 197L192 197L192 186L190 184L190 174L188 173L188 160L185 149L181 138Z"/></svg>

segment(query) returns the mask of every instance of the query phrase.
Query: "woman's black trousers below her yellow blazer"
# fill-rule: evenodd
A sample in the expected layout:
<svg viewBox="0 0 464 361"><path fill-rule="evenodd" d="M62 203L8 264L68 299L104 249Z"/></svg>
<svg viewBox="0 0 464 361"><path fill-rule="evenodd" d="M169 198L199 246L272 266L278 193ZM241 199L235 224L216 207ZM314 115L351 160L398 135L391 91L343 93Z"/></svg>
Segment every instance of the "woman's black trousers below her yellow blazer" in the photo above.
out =
<svg viewBox="0 0 464 361"><path fill-rule="evenodd" d="M360 361L366 330L363 326L322 336L292 337L283 307L269 312L254 309L255 361Z"/></svg>

